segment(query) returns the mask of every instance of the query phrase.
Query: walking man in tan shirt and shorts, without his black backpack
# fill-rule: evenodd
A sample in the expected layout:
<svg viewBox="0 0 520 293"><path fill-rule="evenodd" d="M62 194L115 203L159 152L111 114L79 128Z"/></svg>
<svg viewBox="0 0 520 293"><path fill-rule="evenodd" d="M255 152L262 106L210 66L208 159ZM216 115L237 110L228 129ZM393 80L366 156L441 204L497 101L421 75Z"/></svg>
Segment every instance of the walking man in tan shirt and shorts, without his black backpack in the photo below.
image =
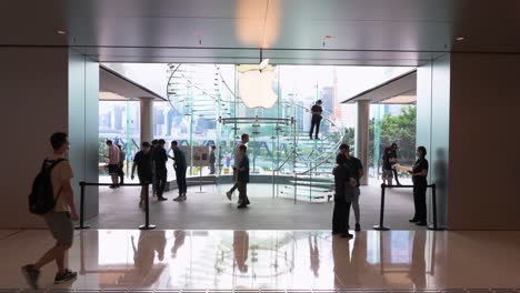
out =
<svg viewBox="0 0 520 293"><path fill-rule="evenodd" d="M54 284L60 284L77 277L78 273L69 270L64 260L67 252L72 246L74 229L72 221L78 221L71 179L74 176L70 162L66 159L69 151L69 137L63 132L56 132L50 138L52 154L46 158L43 168L50 172L52 185L53 208L42 215L49 231L56 240L52 249L47 251L38 262L21 267L29 285L37 290L40 270L46 264L54 261L58 272Z"/></svg>

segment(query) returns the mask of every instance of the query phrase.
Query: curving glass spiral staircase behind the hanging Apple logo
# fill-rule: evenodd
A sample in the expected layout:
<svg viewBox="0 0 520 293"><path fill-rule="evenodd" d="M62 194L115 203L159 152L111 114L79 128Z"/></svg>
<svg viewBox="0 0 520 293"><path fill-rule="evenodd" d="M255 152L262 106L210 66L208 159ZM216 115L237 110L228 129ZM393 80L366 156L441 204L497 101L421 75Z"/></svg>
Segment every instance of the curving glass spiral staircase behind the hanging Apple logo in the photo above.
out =
<svg viewBox="0 0 520 293"><path fill-rule="evenodd" d="M346 134L341 121L332 113L323 111L320 140L311 140L303 129L304 117L310 117L311 111L294 97L280 97L272 109L248 109L229 87L237 75L233 82L227 82L214 64L171 64L170 68L170 105L190 117L192 124L198 120L214 124L218 183L221 179L222 183L229 181L233 148L242 133L249 133L251 175L271 176L262 182L272 184L272 196L311 202L330 200L336 154Z"/></svg>

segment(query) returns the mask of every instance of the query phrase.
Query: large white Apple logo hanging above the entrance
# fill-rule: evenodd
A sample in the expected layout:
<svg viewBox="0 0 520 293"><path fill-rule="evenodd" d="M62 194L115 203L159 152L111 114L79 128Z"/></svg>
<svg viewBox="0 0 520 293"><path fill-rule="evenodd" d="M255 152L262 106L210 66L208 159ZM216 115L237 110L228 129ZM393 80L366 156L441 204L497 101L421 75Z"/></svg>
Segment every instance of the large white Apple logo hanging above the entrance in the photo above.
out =
<svg viewBox="0 0 520 293"><path fill-rule="evenodd" d="M278 100L272 90L272 81L276 73L269 65L269 59L257 65L244 65L247 68L239 79L239 97L247 108L271 108Z"/></svg>

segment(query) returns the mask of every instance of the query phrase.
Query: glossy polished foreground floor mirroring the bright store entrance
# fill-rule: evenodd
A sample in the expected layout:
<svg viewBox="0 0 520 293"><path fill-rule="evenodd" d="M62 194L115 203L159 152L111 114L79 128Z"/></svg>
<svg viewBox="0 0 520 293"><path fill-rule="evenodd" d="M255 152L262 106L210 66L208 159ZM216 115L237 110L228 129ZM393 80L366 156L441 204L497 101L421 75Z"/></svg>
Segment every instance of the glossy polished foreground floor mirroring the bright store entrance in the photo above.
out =
<svg viewBox="0 0 520 293"><path fill-rule="evenodd" d="M52 244L47 231L0 240L0 289L26 287L19 267ZM77 232L73 290L446 290L520 286L519 232L324 231Z"/></svg>

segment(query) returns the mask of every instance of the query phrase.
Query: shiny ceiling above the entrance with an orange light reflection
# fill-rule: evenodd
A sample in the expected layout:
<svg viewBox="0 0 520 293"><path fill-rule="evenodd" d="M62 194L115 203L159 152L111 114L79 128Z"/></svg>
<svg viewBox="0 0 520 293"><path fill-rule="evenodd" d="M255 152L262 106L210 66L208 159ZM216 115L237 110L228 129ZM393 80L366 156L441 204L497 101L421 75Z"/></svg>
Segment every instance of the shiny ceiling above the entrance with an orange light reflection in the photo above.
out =
<svg viewBox="0 0 520 293"><path fill-rule="evenodd" d="M264 48L272 63L417 65L520 52L519 12L518 0L3 0L0 46L121 62L256 62Z"/></svg>

